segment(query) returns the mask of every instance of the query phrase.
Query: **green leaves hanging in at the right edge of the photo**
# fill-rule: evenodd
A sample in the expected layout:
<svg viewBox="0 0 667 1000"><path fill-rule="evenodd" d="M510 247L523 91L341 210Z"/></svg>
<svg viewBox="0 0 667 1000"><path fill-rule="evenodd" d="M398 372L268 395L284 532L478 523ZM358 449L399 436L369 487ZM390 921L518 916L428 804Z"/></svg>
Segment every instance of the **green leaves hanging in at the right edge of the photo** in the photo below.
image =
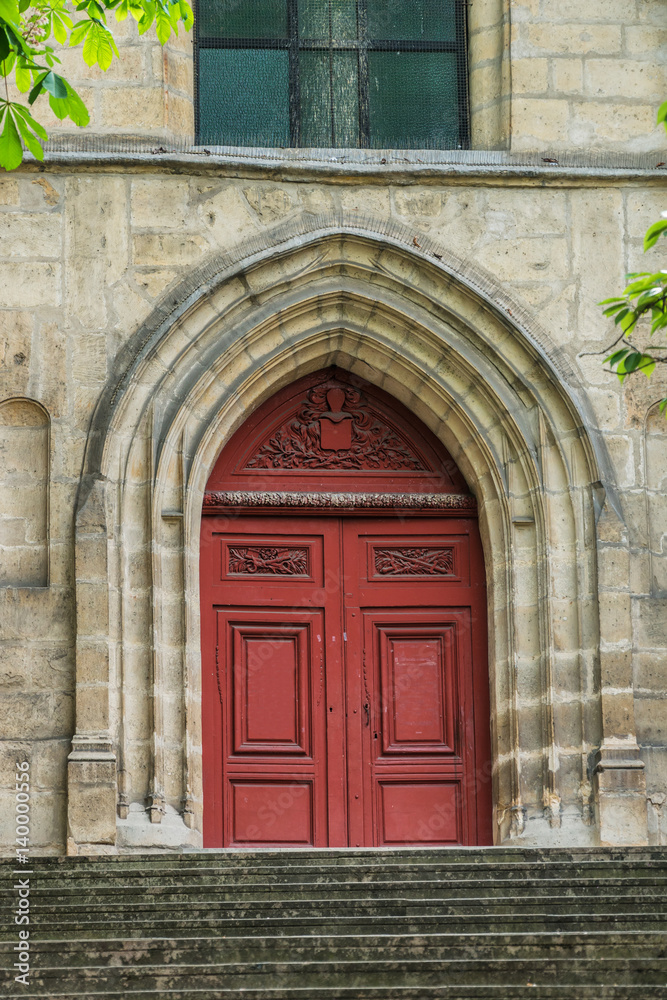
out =
<svg viewBox="0 0 667 1000"><path fill-rule="evenodd" d="M658 124L667 130L667 101L658 109ZM659 222L649 226L644 236L644 252L656 245L667 235L667 212L662 213ZM604 315L613 316L614 324L621 331L614 346L624 340L627 346L617 348L605 358L612 371L621 382L628 375L643 372L649 378L659 364L667 363L667 357L648 353L635 346L629 339L637 331L637 324L650 319L650 335L667 328L667 270L637 271L626 276L628 284L621 295L603 299L598 305L604 306ZM647 329L648 324L646 325ZM667 345L656 344L652 351L665 351ZM667 416L667 397L660 402L660 412Z"/></svg>

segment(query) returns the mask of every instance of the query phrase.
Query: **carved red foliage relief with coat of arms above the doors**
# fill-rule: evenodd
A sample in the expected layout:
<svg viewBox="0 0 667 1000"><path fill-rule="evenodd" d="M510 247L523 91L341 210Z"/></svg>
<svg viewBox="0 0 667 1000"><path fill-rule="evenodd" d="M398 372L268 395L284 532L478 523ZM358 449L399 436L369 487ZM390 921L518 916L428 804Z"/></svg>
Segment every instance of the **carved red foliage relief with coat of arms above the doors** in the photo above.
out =
<svg viewBox="0 0 667 1000"><path fill-rule="evenodd" d="M361 392L330 379L248 459L254 469L429 471L397 432L368 411Z"/></svg>

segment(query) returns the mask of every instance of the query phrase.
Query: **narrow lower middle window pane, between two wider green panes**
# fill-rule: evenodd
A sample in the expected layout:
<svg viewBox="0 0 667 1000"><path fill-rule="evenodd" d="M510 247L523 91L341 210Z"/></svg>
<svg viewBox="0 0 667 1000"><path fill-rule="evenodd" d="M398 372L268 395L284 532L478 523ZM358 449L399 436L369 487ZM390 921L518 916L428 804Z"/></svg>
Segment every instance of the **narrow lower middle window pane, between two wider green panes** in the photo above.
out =
<svg viewBox="0 0 667 1000"><path fill-rule="evenodd" d="M301 145L359 144L355 52L301 52ZM332 127L333 111L333 127Z"/></svg>

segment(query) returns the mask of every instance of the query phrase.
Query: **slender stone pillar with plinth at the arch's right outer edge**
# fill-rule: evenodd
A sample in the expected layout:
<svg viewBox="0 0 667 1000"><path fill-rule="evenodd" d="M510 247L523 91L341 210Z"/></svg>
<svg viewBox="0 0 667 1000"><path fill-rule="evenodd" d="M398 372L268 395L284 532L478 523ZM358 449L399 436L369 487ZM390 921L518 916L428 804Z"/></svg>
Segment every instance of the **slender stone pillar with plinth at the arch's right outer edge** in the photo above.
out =
<svg viewBox="0 0 667 1000"><path fill-rule="evenodd" d="M607 501L598 521L602 744L595 767L600 841L648 843L646 776L635 730L630 553Z"/></svg>

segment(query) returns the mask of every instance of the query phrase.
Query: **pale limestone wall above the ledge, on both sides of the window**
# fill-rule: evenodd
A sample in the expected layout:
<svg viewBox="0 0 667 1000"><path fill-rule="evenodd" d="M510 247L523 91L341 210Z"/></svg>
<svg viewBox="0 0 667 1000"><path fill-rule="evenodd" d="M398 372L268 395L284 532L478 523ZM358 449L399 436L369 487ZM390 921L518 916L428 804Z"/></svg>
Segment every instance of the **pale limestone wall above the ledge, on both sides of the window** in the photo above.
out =
<svg viewBox="0 0 667 1000"><path fill-rule="evenodd" d="M468 18L474 149L602 154L664 146L655 127L666 80L662 0L474 0ZM91 131L190 141L192 35L181 29L161 49L132 18L114 31L121 59L107 73L86 67L80 47L60 51ZM48 105L42 114L52 134L77 134Z"/></svg>

